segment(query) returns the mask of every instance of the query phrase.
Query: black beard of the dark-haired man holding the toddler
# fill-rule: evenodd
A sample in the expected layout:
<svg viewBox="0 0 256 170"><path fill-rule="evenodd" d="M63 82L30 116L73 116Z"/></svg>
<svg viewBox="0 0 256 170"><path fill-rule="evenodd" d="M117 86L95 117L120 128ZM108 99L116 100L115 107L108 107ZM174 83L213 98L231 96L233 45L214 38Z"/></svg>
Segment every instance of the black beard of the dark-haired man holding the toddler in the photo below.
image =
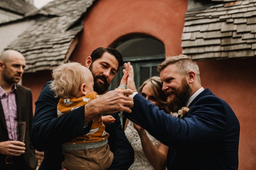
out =
<svg viewBox="0 0 256 170"><path fill-rule="evenodd" d="M91 70L91 74L93 75L93 82L94 82L93 90L97 92L99 95L103 95L104 93L107 92L107 89L109 88L110 83L107 82L107 78L105 77L105 75L97 75L94 73L92 69L92 64L90 65L89 69ZM97 79L101 79L104 83L97 82Z"/></svg>

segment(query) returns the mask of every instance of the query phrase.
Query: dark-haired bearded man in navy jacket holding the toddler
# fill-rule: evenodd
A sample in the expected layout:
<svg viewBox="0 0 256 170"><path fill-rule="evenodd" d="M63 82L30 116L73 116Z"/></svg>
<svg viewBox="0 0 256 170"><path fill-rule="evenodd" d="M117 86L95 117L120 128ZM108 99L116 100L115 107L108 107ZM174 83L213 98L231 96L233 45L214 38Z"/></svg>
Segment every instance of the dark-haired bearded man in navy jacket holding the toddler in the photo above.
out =
<svg viewBox="0 0 256 170"><path fill-rule="evenodd" d="M61 169L64 160L61 145L75 137L88 133L93 118L102 113L111 114L115 121L105 124L109 133L108 144L114 154L114 160L108 170L129 169L134 162L134 150L122 129L118 111L130 111L133 101L124 96L132 94L131 90L113 90L107 92L111 80L123 65L122 55L114 48L95 49L87 57L85 66L94 77L94 91L101 97L90 101L69 113L57 116L59 98L54 97L54 91L46 83L35 103L31 143L38 151L44 151L44 158L39 170ZM107 93L106 93L107 92ZM106 94L105 94L106 93ZM105 115L105 114L103 114ZM67 121L69 120L69 121ZM95 160L94 160L95 161ZM101 162L101 159L99 159ZM88 168L88 167L87 167Z"/></svg>

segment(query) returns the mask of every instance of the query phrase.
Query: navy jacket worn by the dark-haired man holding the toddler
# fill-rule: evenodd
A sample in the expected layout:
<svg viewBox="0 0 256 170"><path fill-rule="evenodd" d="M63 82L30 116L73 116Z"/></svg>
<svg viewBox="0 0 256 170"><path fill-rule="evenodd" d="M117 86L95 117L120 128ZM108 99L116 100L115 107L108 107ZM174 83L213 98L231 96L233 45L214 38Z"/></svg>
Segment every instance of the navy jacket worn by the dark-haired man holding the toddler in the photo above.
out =
<svg viewBox="0 0 256 170"><path fill-rule="evenodd" d="M57 117L59 98L54 97L54 92L50 91L50 87L47 86L49 83L43 87L35 103L31 131L32 145L36 150L44 151L39 170L61 169L61 163L64 160L61 145L88 133L92 123L90 122L86 128L83 128L84 106ZM120 166L128 169L134 162L134 150L125 136L118 114L111 115L116 119L115 122L110 125L105 124L106 131L109 133L108 144L114 153L114 160L108 169L120 169Z"/></svg>

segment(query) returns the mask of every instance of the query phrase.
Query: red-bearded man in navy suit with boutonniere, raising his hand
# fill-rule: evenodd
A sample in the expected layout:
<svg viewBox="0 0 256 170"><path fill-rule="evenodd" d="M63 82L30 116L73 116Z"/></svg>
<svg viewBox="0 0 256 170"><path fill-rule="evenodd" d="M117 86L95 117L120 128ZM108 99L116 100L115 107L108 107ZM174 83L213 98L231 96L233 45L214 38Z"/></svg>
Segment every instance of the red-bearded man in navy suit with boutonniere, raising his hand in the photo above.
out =
<svg viewBox="0 0 256 170"><path fill-rule="evenodd" d="M199 68L191 58L169 57L158 66L171 112L190 108L178 118L139 95L132 66L127 63L125 68L134 106L123 115L169 146L167 169L238 169L239 121L224 100L201 86Z"/></svg>

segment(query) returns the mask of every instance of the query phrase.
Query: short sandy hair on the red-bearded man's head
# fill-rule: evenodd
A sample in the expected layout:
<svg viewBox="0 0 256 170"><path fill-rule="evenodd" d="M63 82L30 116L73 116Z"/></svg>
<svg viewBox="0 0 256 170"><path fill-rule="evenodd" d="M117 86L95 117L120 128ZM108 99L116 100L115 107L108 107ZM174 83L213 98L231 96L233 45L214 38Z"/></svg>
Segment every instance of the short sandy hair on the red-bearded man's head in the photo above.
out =
<svg viewBox="0 0 256 170"><path fill-rule="evenodd" d="M199 67L197 63L195 63L190 57L180 54L179 56L168 56L168 58L163 61L159 66L157 67L157 71L161 72L165 67L175 64L177 66L177 71L178 73L184 77L189 73L189 71L194 71L196 75L196 79L199 84L201 84L201 79L200 79L200 72L199 72Z"/></svg>

